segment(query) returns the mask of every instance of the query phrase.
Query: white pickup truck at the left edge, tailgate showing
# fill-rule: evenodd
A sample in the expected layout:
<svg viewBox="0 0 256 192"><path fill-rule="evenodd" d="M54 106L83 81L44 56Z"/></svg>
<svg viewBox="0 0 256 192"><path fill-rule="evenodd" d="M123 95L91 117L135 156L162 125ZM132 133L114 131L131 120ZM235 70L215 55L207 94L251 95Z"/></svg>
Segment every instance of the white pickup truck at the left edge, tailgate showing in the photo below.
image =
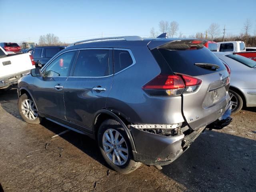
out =
<svg viewBox="0 0 256 192"><path fill-rule="evenodd" d="M18 80L35 68L35 62L30 53L8 55L0 47L0 89L17 84Z"/></svg>

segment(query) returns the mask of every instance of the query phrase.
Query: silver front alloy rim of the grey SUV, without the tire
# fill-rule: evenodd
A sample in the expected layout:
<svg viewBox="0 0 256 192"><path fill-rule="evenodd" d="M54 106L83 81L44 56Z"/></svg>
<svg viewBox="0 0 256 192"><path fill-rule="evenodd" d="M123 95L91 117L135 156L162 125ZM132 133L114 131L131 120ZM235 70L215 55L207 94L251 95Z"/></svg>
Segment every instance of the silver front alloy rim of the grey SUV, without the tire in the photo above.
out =
<svg viewBox="0 0 256 192"><path fill-rule="evenodd" d="M35 120L38 117L36 105L30 99L25 99L22 101L21 110L24 116L29 120Z"/></svg>

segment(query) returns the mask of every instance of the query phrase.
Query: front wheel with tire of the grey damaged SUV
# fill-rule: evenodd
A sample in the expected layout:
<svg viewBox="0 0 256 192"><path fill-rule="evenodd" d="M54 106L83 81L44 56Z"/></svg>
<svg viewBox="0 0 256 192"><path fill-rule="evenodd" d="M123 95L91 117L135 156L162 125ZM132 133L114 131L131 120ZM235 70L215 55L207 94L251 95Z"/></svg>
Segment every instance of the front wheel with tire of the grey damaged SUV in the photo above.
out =
<svg viewBox="0 0 256 192"><path fill-rule="evenodd" d="M38 115L34 101L30 96L27 94L22 94L20 96L18 100L18 109L20 116L24 119L24 121L30 124L40 124L42 118Z"/></svg>

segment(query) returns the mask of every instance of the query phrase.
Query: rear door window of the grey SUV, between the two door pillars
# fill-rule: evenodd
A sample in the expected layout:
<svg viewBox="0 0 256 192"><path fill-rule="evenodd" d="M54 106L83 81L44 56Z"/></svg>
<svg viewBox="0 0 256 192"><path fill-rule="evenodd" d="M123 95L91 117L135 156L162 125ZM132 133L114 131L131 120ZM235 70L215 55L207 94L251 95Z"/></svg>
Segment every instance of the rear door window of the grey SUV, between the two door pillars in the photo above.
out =
<svg viewBox="0 0 256 192"><path fill-rule="evenodd" d="M111 50L112 52L112 50ZM103 77L112 74L110 50L80 50L73 76Z"/></svg>

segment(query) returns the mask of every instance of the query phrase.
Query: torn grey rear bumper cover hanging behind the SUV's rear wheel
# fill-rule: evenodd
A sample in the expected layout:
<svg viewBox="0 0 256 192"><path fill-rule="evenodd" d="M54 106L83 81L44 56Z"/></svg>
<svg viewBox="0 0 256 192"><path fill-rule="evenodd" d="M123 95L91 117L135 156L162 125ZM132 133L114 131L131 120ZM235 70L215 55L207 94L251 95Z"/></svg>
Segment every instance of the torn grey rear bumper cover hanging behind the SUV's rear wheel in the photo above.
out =
<svg viewBox="0 0 256 192"><path fill-rule="evenodd" d="M134 160L147 165L168 165L185 152L205 127L188 135L162 136L130 127L136 152Z"/></svg>

